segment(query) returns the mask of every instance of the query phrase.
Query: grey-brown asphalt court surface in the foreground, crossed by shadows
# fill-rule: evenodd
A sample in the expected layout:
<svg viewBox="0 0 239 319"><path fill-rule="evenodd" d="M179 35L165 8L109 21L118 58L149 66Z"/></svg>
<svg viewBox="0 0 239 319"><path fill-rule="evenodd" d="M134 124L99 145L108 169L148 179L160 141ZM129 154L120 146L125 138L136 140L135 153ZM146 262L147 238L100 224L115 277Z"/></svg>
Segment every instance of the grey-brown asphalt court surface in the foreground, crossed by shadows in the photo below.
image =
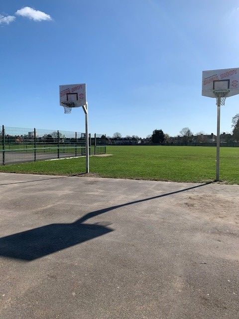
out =
<svg viewBox="0 0 239 319"><path fill-rule="evenodd" d="M238 319L239 185L0 173L0 318Z"/></svg>

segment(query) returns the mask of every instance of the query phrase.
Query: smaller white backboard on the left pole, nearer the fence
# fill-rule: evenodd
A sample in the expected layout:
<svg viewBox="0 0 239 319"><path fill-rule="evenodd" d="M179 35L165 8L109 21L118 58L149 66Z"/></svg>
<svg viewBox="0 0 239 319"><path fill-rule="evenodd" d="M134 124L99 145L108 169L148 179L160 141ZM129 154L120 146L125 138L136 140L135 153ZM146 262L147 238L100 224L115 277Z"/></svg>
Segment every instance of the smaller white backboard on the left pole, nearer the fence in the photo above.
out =
<svg viewBox="0 0 239 319"><path fill-rule="evenodd" d="M86 84L60 85L60 105L62 102L74 102L75 107L86 105Z"/></svg>

